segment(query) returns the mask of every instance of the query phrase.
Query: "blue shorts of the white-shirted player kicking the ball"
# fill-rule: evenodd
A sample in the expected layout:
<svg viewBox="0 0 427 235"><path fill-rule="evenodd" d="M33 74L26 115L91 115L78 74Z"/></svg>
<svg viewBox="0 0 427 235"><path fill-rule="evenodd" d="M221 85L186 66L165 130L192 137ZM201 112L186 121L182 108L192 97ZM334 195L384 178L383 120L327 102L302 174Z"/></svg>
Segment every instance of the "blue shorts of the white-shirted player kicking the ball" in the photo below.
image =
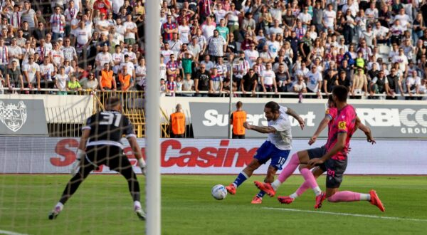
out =
<svg viewBox="0 0 427 235"><path fill-rule="evenodd" d="M265 162L271 159L270 166L275 169L282 169L283 164L285 164L288 159L289 152L290 150L279 150L270 141L265 141L263 145L256 150L253 158L258 160L260 164L265 164Z"/></svg>

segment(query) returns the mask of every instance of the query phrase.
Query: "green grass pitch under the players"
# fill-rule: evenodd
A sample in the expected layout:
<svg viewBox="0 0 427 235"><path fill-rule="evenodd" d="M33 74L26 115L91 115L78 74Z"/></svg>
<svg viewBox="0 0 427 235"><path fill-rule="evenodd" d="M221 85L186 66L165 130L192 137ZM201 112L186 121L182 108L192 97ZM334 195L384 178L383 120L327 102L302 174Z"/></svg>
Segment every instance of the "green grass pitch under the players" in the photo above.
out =
<svg viewBox="0 0 427 235"><path fill-rule="evenodd" d="M258 192L253 180L263 180L262 175L251 177L236 195L228 194L223 201L211 197L214 184L227 185L234 177L163 176L162 234L427 233L427 177L344 177L342 190L376 189L385 213L369 202L325 202L315 210L311 190L290 205L267 195L263 204L253 205L251 199ZM58 219L49 221L48 212L68 179L69 175L54 174L0 175L0 234L144 234L145 222L133 213L127 184L120 175L90 175ZM138 179L144 192L145 179L141 175ZM290 177L278 195L294 192L301 182L300 176ZM324 189L325 177L319 182Z"/></svg>

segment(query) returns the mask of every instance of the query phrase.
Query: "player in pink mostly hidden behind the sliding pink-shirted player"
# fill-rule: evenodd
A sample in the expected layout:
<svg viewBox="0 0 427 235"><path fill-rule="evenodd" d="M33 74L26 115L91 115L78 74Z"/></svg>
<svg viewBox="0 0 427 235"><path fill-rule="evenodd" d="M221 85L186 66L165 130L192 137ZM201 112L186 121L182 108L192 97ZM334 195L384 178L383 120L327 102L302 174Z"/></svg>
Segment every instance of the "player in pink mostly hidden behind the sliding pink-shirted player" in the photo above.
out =
<svg viewBox="0 0 427 235"><path fill-rule="evenodd" d="M332 98L332 95L329 95L328 98L329 99L328 99L327 105L329 108L327 108L327 110L325 112L325 117L320 122L320 125L317 127L315 134L312 135L312 137L310 138L310 140L308 142L309 145L312 145L313 143L316 142L317 137L320 135L322 130L325 129L325 127L329 126L329 130L332 130L332 123L333 123L332 120L334 120L334 118L337 117L337 108L335 108L335 104L334 104L334 100ZM360 123L359 129L365 133L365 135L367 136L368 142L372 143L372 145L374 145L374 143L376 143L374 138L371 135L371 129L369 127ZM308 157L310 157L310 159L312 159L315 157L322 157L323 155L325 155L325 152L326 152L326 147L325 147L325 145L323 145L322 147L315 147L315 148L312 148L310 150L299 151L299 152L297 152L297 155L298 156L308 155ZM301 167L302 167L302 165L300 165L300 169L301 169ZM317 179L317 177L319 177L325 171L326 171L325 165L322 164L320 167L315 167L312 170L312 174ZM260 184L260 182L255 182L255 185L259 185L259 184ZM304 193L305 190L307 190L309 188L310 188L309 183L307 181L305 181L301 184L301 186L297 189L297 191L290 194L289 196L278 197L278 200L280 203L283 203L283 204L291 204L297 197L300 197L300 195L302 193ZM277 191L277 189L275 189L275 191Z"/></svg>

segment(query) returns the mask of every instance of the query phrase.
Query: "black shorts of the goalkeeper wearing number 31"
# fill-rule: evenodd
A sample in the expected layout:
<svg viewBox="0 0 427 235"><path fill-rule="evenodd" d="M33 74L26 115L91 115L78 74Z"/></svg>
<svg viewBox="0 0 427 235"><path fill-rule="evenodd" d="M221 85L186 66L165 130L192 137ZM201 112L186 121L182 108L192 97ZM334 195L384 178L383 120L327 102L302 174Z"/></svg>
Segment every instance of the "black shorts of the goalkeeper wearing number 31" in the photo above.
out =
<svg viewBox="0 0 427 235"><path fill-rule="evenodd" d="M94 167L95 165L99 167L105 164L116 172L120 172L122 169L127 168L132 169L132 164L130 164L126 155L123 154L123 150L114 145L94 145L86 147L84 165L87 166L89 164L94 165Z"/></svg>

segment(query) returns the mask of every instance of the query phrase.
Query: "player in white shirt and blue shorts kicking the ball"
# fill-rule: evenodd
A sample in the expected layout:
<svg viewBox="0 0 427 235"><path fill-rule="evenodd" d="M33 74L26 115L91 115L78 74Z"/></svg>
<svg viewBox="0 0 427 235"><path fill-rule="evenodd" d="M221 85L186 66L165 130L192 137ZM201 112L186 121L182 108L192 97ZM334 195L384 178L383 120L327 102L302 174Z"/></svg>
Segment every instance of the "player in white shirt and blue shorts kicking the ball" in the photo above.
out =
<svg viewBox="0 0 427 235"><path fill-rule="evenodd" d="M252 162L238 174L233 183L226 187L230 194L236 194L237 187L251 177L255 169L258 169L261 164L265 164L270 159L270 166L268 166L267 176L264 180L267 183L273 182L275 173L278 169L282 169L292 147L292 133L288 115L294 117L300 123L301 129L304 128L304 120L294 110L280 106L273 101L265 104L264 113L268 121L267 127L250 125L248 122L243 123L243 127L246 129L268 134L268 138L257 150ZM253 197L251 203L261 204L264 195L265 192L260 191Z"/></svg>

